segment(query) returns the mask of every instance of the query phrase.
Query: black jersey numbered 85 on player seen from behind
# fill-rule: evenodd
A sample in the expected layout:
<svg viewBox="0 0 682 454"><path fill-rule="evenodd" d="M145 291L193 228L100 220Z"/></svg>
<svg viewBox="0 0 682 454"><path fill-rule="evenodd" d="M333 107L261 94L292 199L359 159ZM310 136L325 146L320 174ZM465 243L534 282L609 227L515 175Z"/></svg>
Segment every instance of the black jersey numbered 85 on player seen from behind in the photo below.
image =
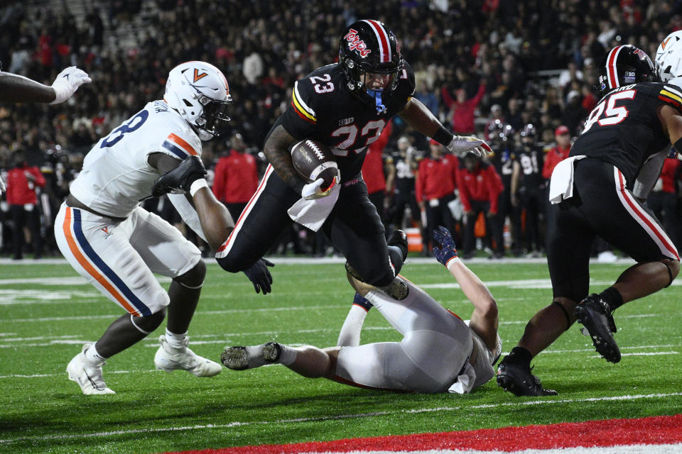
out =
<svg viewBox="0 0 682 454"><path fill-rule="evenodd" d="M632 189L644 161L670 145L657 114L659 106L666 104L682 111L682 89L644 82L613 90L590 113L570 155L610 162Z"/></svg>

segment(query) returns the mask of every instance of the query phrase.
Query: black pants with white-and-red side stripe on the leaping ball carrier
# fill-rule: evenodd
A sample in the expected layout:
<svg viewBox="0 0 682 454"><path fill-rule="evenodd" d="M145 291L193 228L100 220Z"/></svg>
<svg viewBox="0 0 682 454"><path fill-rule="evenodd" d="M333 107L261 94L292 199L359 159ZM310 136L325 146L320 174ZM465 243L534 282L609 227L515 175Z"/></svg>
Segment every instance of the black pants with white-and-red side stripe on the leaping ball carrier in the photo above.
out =
<svg viewBox="0 0 682 454"><path fill-rule="evenodd" d="M220 266L239 272L259 260L293 223L287 210L300 198L269 166L256 193L235 220L234 231L215 255ZM397 248L390 248L389 260L384 226L360 175L341 183L339 199L322 230L365 282L388 285L399 272L402 256Z"/></svg>

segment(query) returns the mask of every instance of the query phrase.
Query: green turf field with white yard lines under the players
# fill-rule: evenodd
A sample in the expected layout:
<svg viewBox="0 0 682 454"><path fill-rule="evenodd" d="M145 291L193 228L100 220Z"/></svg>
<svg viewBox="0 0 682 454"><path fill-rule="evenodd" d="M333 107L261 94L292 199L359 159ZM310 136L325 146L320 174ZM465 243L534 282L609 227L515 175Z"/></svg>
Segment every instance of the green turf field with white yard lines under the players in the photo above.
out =
<svg viewBox="0 0 682 454"><path fill-rule="evenodd" d="M277 262L277 260L274 260ZM551 301L546 265L479 262L499 304L503 351ZM627 265L592 265L594 290ZM218 361L226 345L276 340L330 346L352 301L342 264L273 270L274 293L208 267L190 346ZM470 304L438 263L403 274L467 319ZM390 394L306 380L281 365L199 379L153 370L165 323L104 366L117 394L84 396L67 362L96 341L118 306L75 279L68 265L0 265L0 453L161 453L262 443L325 441L531 423L676 414L682 408L682 289L673 284L616 313L623 359L612 365L573 326L538 356L534 372L557 397L518 398L494 380L470 395ZM167 280L167 279L166 279ZM164 281L166 282L166 281ZM166 283L166 285L168 285ZM376 309L362 342L399 340Z"/></svg>

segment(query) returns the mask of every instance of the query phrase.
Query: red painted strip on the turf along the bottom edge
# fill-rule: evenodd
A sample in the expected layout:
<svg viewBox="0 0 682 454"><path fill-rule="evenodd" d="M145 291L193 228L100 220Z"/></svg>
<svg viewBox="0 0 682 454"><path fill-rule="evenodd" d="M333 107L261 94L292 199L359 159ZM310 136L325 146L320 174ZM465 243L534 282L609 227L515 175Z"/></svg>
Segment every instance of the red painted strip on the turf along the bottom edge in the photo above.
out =
<svg viewBox="0 0 682 454"><path fill-rule="evenodd" d="M291 445L183 451L183 454L345 453L353 450L409 451L424 449L524 450L658 445L682 442L682 414L641 419L605 419L548 426L484 428L477 431L418 433L416 435L348 438ZM171 453L166 453L171 454ZM180 454L180 453L175 453Z"/></svg>

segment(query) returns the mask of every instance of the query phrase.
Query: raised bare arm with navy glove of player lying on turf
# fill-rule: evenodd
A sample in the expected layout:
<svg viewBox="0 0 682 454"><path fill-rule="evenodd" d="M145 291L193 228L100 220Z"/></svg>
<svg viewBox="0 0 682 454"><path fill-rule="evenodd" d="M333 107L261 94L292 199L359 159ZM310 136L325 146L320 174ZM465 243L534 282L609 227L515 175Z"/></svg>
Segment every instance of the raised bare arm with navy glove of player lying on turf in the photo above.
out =
<svg viewBox="0 0 682 454"><path fill-rule="evenodd" d="M488 287L465 265L457 254L455 242L447 228L440 226L433 231L433 255L445 265L455 278L465 297L474 305L470 328L476 331L490 350L497 348L497 304Z"/></svg>

